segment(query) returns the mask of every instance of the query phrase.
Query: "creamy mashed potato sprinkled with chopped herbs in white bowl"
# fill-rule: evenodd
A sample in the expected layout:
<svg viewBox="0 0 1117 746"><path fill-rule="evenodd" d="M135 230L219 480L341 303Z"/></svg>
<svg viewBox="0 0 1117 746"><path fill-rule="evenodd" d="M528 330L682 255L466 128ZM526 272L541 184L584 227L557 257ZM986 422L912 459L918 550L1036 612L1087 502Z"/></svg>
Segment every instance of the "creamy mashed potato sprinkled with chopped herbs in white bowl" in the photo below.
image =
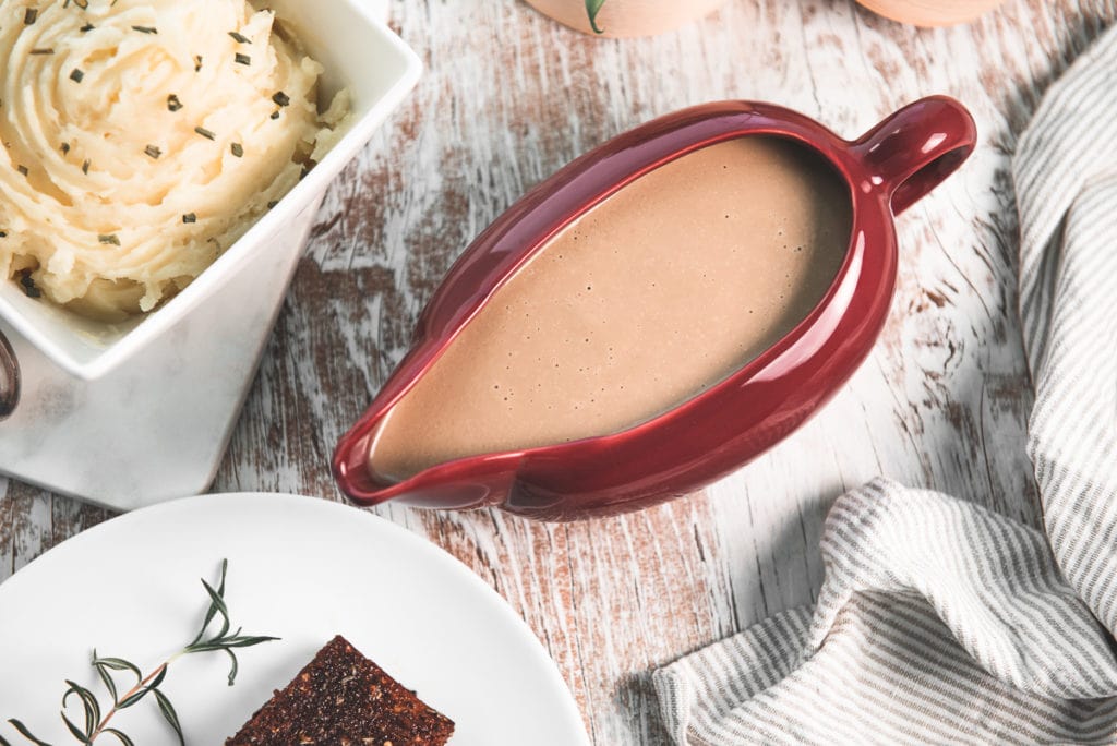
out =
<svg viewBox="0 0 1117 746"><path fill-rule="evenodd" d="M0 276L106 321L185 287L349 109L245 0L0 0Z"/></svg>

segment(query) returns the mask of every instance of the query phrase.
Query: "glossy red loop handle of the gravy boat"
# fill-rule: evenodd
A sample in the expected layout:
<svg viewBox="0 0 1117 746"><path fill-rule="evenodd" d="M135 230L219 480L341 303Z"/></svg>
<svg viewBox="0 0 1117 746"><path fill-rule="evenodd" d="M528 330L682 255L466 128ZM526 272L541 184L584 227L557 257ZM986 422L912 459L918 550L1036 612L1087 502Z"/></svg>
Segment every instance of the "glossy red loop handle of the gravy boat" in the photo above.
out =
<svg viewBox="0 0 1117 746"><path fill-rule="evenodd" d="M908 104L853 143L865 164L866 191L879 189L899 214L954 173L973 152L970 112L948 96Z"/></svg>

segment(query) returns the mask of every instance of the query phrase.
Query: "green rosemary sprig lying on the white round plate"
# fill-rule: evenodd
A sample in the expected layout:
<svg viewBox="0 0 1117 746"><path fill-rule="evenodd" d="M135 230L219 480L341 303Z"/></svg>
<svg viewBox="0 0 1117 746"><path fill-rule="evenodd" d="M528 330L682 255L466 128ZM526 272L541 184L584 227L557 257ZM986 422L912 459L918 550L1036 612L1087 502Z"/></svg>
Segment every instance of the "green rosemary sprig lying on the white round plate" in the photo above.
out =
<svg viewBox="0 0 1117 746"><path fill-rule="evenodd" d="M179 744L185 744L185 738L182 735L182 725L179 723L179 715L174 711L174 706L171 705L171 700L166 698L166 695L159 688L163 683L163 679L166 677L166 671L171 663L183 656L189 656L192 653L202 652L217 652L225 651L229 656L231 661L231 667L229 669L229 686L233 685L237 678L237 671L239 666L237 663L237 654L233 652L236 648L250 648L252 645L258 645L261 642L270 642L273 640L278 640L279 638L262 637L262 635L247 635L241 634L238 629L236 632L230 633L232 623L229 621L229 606L225 601L225 576L229 568L229 561L221 561L221 581L218 583L217 589L202 580L202 586L206 589L206 593L209 596L210 605L206 611L206 618L202 620L201 629L198 630L198 634L193 640L190 641L182 650L174 653L165 661L155 667L151 673L146 676L140 670L140 667L130 663L123 658L102 658L97 654L97 651L93 651L92 666L97 671L97 676L101 678L102 683L105 685L105 689L108 691L108 696L112 699L113 706L108 710L102 710L101 702L97 696L93 694L89 689L86 689L82 685L66 680L66 692L63 695L63 708L61 718L66 728L79 743L86 744L87 746L93 744L98 737L103 735L111 735L118 740L122 746L134 746L133 740L117 728L108 727L108 721L113 719L113 716L123 709L127 709L133 705L140 702L147 695L151 695L159 706L159 711L162 714L163 719L168 721L171 728L174 730L174 735L178 736ZM221 622L218 625L217 633L210 631L210 625L213 623L216 618L220 616ZM131 689L120 692L120 683L116 677L121 672L127 672L135 677L135 683ZM75 698L76 702L82 706L83 714L83 725L78 725L67 715L67 709L70 705L70 698ZM36 746L50 746L45 740L41 740L34 736L30 729L23 725L21 721L11 718L8 720L19 731L21 736L27 738ZM3 736L0 736L0 746L11 746Z"/></svg>

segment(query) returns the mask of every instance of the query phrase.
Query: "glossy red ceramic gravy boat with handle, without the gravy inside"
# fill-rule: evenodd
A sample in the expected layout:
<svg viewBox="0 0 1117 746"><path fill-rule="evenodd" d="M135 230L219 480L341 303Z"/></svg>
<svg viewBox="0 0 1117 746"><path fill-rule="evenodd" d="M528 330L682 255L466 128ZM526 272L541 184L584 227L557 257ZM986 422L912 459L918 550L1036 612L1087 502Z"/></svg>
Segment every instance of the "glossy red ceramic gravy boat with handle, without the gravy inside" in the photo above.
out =
<svg viewBox="0 0 1117 746"><path fill-rule="evenodd" d="M844 260L813 310L720 383L621 432L458 458L388 484L369 466L378 427L493 294L547 240L637 178L707 145L753 135L813 151L844 181L852 231ZM846 141L795 112L753 102L687 108L627 132L533 189L481 233L423 310L411 351L333 468L351 500L504 510L566 520L632 510L693 492L772 448L822 407L868 355L896 284L892 218L970 155L975 128L935 96Z"/></svg>

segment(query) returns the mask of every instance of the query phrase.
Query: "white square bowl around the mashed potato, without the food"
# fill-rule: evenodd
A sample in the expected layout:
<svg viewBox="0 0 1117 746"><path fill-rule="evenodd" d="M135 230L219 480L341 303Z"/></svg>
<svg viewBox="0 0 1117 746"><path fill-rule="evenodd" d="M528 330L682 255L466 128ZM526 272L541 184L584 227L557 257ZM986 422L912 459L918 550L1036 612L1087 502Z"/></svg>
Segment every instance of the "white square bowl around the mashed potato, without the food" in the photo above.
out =
<svg viewBox="0 0 1117 746"><path fill-rule="evenodd" d="M325 66L322 101L328 102L341 88L352 93L349 132L198 279L145 316L122 324L94 322L29 298L16 283L0 278L0 317L71 375L92 381L124 363L204 303L245 262L294 230L296 218L322 198L330 182L419 79L419 57L376 17L367 0L273 0L270 7L295 30L311 56Z"/></svg>

